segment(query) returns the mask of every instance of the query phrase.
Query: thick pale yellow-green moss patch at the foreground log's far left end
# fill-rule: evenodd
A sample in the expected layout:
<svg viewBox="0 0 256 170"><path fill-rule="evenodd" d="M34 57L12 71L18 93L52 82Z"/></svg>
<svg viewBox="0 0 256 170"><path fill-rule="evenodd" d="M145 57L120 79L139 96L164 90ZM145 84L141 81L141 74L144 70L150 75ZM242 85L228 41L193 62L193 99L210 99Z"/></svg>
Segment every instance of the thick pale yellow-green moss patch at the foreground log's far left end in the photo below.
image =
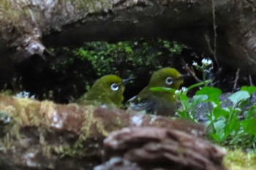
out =
<svg viewBox="0 0 256 170"><path fill-rule="evenodd" d="M4 150L10 149L15 142L20 142L22 134L20 129L24 126L36 126L39 134L39 139L43 139L43 131L49 129L50 122L46 118L47 112L44 112L44 108L53 108L53 103L50 101L43 101L42 104L39 101L34 101L29 98L15 98L12 105L1 105L1 112L6 112L10 117L10 123L4 126L5 135L0 140L0 145ZM42 114L40 114L42 113Z"/></svg>

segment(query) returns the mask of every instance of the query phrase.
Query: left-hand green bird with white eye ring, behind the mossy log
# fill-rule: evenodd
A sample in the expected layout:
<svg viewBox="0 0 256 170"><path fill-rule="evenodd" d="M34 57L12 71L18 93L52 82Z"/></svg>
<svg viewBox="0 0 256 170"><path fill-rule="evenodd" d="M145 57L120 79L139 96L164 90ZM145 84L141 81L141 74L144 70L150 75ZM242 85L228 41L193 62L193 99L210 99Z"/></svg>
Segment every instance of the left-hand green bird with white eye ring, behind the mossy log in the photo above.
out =
<svg viewBox="0 0 256 170"><path fill-rule="evenodd" d="M78 99L78 104L101 105L108 108L119 108L124 101L124 89L129 79L121 79L109 74L94 82L91 89Z"/></svg>

